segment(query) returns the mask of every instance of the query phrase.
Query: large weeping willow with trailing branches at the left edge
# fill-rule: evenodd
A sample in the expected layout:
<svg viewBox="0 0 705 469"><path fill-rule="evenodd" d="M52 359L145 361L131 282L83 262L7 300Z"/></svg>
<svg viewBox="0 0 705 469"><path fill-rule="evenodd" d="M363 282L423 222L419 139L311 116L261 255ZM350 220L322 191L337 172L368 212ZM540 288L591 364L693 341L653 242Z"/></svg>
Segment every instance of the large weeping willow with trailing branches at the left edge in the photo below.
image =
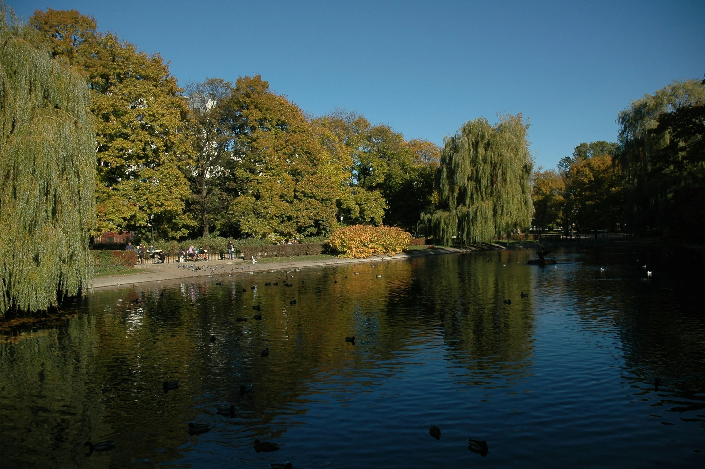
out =
<svg viewBox="0 0 705 469"><path fill-rule="evenodd" d="M56 306L92 276L88 89L28 34L0 3L0 317Z"/></svg>

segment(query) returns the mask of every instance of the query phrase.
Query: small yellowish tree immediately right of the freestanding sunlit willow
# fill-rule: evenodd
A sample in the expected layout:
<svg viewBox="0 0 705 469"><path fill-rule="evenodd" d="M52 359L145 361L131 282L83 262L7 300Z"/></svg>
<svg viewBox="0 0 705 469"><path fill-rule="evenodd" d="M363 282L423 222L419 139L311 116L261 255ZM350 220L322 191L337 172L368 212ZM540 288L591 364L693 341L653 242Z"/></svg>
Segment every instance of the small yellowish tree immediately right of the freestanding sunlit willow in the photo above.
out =
<svg viewBox="0 0 705 469"><path fill-rule="evenodd" d="M539 168L534 171L532 183L534 186L532 192L532 199L534 200L532 226L536 226L539 230L544 228L556 229L563 218L565 181L555 169L541 171L541 168Z"/></svg>

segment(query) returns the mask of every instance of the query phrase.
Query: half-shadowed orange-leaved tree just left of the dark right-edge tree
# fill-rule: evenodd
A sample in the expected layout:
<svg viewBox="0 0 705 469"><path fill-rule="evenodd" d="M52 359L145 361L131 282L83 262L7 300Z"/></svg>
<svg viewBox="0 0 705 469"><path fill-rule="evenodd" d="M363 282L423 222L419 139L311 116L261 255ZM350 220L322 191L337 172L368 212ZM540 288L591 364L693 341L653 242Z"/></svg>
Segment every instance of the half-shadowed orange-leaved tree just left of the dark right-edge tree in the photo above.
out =
<svg viewBox="0 0 705 469"><path fill-rule="evenodd" d="M623 223L623 176L613 164L618 145L605 141L581 143L559 167L565 183L563 226L581 231L614 230Z"/></svg>

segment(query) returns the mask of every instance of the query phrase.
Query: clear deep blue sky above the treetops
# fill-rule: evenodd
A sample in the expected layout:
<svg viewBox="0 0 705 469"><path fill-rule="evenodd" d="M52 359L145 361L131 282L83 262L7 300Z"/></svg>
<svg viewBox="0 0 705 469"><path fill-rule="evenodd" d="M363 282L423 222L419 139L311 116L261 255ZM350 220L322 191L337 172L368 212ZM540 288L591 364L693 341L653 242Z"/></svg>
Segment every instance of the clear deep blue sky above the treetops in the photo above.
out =
<svg viewBox="0 0 705 469"><path fill-rule="evenodd" d="M181 83L259 73L305 111L344 107L439 145L472 118L522 112L545 167L615 141L632 99L705 74L705 1L6 4L90 14Z"/></svg>

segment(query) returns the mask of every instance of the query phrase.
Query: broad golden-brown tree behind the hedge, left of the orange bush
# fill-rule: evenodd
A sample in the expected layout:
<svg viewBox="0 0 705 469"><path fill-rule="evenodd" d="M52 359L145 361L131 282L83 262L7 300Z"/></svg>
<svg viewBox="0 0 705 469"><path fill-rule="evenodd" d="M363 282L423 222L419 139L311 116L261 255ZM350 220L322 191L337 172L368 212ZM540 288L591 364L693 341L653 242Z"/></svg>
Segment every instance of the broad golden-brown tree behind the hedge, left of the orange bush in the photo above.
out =
<svg viewBox="0 0 705 469"><path fill-rule="evenodd" d="M345 175L298 106L259 75L241 77L223 101L223 118L233 134L235 228L275 241L329 233Z"/></svg>

